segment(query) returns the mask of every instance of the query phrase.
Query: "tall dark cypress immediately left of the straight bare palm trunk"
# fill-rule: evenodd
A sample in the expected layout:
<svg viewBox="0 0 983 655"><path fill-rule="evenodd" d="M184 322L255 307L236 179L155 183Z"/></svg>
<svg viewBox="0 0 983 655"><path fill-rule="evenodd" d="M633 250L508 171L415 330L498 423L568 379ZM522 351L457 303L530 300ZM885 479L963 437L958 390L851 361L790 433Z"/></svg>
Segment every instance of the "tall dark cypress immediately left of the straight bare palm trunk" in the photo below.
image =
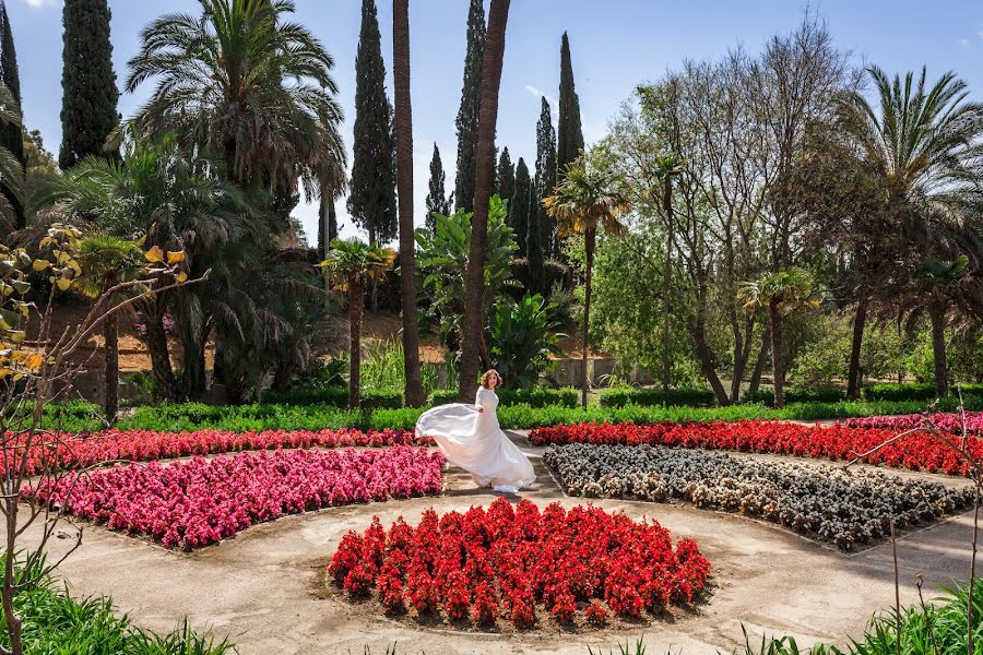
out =
<svg viewBox="0 0 983 655"><path fill-rule="evenodd" d="M386 95L379 19L375 0L362 2L362 33L355 57L355 138L348 214L376 247L396 235L395 148L392 104Z"/></svg>

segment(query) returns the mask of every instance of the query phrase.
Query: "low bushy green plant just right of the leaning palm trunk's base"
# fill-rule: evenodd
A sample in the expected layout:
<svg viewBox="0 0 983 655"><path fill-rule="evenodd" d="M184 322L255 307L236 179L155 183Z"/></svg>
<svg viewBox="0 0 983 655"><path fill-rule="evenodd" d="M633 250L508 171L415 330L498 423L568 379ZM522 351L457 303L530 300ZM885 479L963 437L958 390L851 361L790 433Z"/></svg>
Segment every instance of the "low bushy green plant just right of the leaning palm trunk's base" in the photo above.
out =
<svg viewBox="0 0 983 655"><path fill-rule="evenodd" d="M538 294L526 293L518 302L498 302L492 312L492 360L510 384L525 389L535 385L540 372L549 365L549 356L560 353L553 319L556 303Z"/></svg>

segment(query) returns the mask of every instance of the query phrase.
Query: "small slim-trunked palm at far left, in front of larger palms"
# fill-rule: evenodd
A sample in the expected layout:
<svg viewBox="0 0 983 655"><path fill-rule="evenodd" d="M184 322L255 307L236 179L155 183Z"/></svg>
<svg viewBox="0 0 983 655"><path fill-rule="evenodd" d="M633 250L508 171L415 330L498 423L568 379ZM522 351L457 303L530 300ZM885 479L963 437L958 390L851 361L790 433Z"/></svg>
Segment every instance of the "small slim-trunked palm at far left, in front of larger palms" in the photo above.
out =
<svg viewBox="0 0 983 655"><path fill-rule="evenodd" d="M110 306L118 298L103 298L115 286L126 282L140 270L141 241L121 239L104 233L85 236L79 243L78 261L82 266L79 288L93 299L108 301ZM106 314L103 321L103 348L105 368L105 414L110 424L116 421L119 410L119 317L118 312Z"/></svg>

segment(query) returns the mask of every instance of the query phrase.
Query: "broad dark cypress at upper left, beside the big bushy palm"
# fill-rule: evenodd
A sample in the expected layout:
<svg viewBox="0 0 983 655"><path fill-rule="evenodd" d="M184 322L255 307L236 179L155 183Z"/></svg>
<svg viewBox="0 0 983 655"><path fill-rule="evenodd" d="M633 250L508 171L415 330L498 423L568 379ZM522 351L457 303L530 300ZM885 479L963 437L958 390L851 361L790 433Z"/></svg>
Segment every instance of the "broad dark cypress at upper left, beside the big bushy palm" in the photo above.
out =
<svg viewBox="0 0 983 655"><path fill-rule="evenodd" d="M106 154L106 138L119 124L119 90L112 71L106 0L66 0L61 72L62 170L88 155Z"/></svg>

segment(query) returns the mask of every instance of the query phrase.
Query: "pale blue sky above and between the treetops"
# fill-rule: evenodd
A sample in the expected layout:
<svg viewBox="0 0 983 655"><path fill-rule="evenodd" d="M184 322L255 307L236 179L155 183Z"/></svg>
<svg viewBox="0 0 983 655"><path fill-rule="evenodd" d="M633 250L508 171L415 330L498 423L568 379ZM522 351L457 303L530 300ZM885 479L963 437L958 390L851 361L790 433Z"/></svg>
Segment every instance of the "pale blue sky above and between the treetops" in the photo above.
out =
<svg viewBox="0 0 983 655"><path fill-rule="evenodd" d="M391 3L377 0L382 52L391 85ZM61 1L7 0L13 25L24 118L39 129L51 152L61 139ZM355 51L360 0L296 0L296 20L323 41L335 59L334 75L346 121L342 127L351 152L354 118ZM460 102L464 59L466 0L411 0L411 58L414 121L414 207L423 223L434 142L453 188L454 117ZM118 82L139 48L143 25L167 11L196 11L197 0L110 0L114 63ZM487 7L487 3L486 3ZM857 61L889 72L927 64L929 78L956 70L983 99L983 4L946 0L826 0L813 2L837 45ZM554 99L559 83L560 36L570 36L584 136L604 134L618 105L642 81L655 80L685 58L725 52L735 45L758 51L769 35L792 29L805 2L795 0L513 0L509 13L498 119L499 147L512 160L535 159L540 96ZM123 94L120 111L133 114L150 87ZM556 111L554 108L554 120ZM355 234L344 201L337 204L343 235ZM300 205L308 235L317 235L317 207Z"/></svg>

